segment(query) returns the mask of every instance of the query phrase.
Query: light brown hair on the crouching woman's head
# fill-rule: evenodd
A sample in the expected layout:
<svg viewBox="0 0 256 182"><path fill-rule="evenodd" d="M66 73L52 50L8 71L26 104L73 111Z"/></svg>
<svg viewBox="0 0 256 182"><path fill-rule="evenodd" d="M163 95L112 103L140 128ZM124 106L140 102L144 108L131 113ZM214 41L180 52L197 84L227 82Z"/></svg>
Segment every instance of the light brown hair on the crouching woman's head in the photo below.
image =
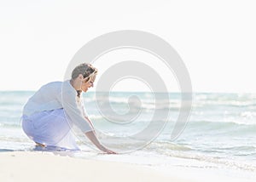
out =
<svg viewBox="0 0 256 182"><path fill-rule="evenodd" d="M84 78L87 78L85 82L90 81L91 78L95 77L97 74L97 69L90 65L89 63L82 63L77 65L72 71L72 79L79 77L82 74Z"/></svg>

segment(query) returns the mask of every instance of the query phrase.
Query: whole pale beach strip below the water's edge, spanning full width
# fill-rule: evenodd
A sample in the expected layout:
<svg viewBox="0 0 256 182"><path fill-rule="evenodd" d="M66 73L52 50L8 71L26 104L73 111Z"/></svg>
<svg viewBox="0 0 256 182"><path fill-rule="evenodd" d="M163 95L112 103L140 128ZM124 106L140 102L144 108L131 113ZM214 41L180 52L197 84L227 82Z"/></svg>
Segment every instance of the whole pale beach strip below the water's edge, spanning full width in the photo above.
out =
<svg viewBox="0 0 256 182"><path fill-rule="evenodd" d="M107 155L107 154L106 154ZM119 155L114 155L122 157ZM255 181L223 168L156 167L127 162L61 156L44 151L0 152L1 181Z"/></svg>

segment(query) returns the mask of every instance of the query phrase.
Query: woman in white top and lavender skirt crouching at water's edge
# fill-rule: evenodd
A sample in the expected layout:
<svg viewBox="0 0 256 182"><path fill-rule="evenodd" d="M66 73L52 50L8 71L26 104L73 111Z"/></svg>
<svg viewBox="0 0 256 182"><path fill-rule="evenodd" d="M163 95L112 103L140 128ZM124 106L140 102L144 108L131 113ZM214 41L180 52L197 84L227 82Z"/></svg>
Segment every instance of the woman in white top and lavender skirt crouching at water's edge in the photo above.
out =
<svg viewBox="0 0 256 182"><path fill-rule="evenodd" d="M23 109L22 128L26 135L42 147L79 150L71 128L78 127L101 151L113 154L96 139L92 122L84 111L82 91L96 79L97 70L83 63L74 68L65 82L49 82L27 101Z"/></svg>

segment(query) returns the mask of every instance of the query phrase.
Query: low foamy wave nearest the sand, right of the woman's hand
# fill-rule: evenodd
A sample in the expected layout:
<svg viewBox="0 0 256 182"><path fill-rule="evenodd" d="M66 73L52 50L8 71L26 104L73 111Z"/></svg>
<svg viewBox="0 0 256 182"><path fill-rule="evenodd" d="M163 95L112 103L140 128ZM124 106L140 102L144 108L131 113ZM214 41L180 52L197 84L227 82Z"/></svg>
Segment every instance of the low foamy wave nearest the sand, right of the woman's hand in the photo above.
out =
<svg viewBox="0 0 256 182"><path fill-rule="evenodd" d="M248 149L253 151L255 150L255 147L241 145L237 147L227 147L226 149L233 152L241 151L241 150L246 151ZM212 152L209 152L209 151L199 152L199 151L195 151L193 148L187 145L175 144L170 142L159 142L159 141L151 143L144 150L155 151L156 153L164 156L171 156L171 157L177 157L182 159L207 162L205 164L207 166L209 166L209 163L212 163L211 165L212 168L236 168L236 169L242 169L245 171L256 172L255 164L249 162L249 160L241 161L239 159L234 159L233 156L230 157L229 152L223 152L224 153L223 155L220 155L217 152L217 150L212 150ZM252 154L250 156L252 156ZM255 158L255 153L254 153L254 158ZM186 165L188 165L188 162Z"/></svg>

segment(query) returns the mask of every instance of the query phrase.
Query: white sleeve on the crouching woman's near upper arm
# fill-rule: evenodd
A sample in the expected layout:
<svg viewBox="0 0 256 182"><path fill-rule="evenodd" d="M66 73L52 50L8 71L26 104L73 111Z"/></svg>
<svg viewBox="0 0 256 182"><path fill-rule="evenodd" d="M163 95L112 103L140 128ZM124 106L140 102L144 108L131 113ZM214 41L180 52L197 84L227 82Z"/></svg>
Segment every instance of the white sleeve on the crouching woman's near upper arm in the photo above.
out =
<svg viewBox="0 0 256 182"><path fill-rule="evenodd" d="M83 133L92 131L90 124L84 118L84 108L79 105L75 94L62 92L62 105L68 122L76 125Z"/></svg>

